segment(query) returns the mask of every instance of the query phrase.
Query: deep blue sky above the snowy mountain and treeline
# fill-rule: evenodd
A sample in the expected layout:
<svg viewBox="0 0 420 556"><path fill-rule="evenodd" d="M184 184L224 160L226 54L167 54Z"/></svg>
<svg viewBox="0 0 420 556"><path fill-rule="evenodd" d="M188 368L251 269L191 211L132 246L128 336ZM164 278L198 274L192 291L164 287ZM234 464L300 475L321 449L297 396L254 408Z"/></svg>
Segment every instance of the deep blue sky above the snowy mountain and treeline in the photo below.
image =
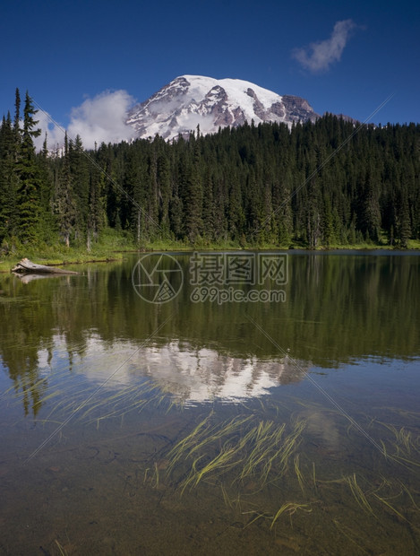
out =
<svg viewBox="0 0 420 556"><path fill-rule="evenodd" d="M372 121L420 121L418 2L14 0L0 18L1 114L19 87L68 126L104 91L121 108L201 74L360 120L393 93Z"/></svg>

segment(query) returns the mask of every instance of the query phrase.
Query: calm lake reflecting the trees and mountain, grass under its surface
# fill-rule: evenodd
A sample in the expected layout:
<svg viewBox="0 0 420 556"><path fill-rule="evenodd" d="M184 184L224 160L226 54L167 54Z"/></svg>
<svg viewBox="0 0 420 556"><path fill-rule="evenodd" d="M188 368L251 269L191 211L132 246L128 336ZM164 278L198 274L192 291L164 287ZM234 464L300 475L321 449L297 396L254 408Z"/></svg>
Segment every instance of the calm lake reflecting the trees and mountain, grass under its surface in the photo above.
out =
<svg viewBox="0 0 420 556"><path fill-rule="evenodd" d="M0 554L420 553L420 256L0 274Z"/></svg>

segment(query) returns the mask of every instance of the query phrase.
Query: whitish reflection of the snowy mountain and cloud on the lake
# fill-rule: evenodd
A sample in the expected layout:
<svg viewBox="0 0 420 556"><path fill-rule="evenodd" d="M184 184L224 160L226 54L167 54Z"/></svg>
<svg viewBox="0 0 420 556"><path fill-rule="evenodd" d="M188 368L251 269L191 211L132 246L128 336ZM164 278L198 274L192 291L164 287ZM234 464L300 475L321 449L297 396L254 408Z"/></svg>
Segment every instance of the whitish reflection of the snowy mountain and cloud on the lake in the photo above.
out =
<svg viewBox="0 0 420 556"><path fill-rule="evenodd" d="M133 357L121 367L118 361ZM64 354L65 357L65 354ZM73 360L73 365L75 361ZM39 352L39 366L44 371L53 369L48 363L48 352ZM92 337L87 342L78 362L84 376L94 382L112 378L128 386L139 377L150 378L157 387L183 403L205 403L218 398L235 401L268 394L270 387L298 382L304 378L308 364L289 358L279 361L261 361L257 358L241 359L221 354L209 348L193 349L171 342L165 345L136 348L135 345L114 343L112 350Z"/></svg>

